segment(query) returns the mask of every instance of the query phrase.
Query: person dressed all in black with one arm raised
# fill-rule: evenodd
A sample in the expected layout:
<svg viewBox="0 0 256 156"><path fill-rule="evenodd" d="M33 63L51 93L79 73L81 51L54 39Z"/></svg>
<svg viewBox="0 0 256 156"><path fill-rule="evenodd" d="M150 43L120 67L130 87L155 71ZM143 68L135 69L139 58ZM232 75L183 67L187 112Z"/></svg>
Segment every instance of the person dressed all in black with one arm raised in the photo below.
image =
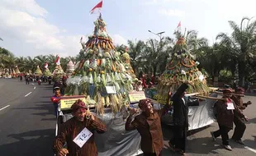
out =
<svg viewBox="0 0 256 156"><path fill-rule="evenodd" d="M188 131L188 106L198 106L199 101L189 101L186 103L184 96L188 82L179 86L176 93L173 94L173 139L168 142L170 148L185 155L186 139Z"/></svg>

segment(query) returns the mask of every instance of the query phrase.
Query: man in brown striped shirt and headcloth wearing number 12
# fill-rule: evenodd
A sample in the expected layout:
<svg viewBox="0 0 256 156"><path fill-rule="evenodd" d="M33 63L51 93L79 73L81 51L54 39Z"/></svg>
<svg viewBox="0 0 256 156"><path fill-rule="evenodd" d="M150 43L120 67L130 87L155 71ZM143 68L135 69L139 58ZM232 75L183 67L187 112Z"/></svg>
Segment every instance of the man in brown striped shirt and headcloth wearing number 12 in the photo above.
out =
<svg viewBox="0 0 256 156"><path fill-rule="evenodd" d="M73 117L61 125L59 134L55 138L55 154L58 156L97 156L93 134L95 131L97 133L107 131L106 125L92 115L80 99L73 103L71 108ZM80 148L73 140L85 127L92 132L92 136ZM64 148L65 142L68 149Z"/></svg>

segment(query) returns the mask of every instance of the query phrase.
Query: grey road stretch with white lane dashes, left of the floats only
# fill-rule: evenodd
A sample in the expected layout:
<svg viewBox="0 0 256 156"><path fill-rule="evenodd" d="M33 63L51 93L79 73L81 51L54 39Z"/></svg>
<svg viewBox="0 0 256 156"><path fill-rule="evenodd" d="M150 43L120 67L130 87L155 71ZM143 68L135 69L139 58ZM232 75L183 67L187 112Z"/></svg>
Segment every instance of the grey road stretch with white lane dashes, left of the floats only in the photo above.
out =
<svg viewBox="0 0 256 156"><path fill-rule="evenodd" d="M0 79L0 88L0 155L53 155L52 88L12 79Z"/></svg>

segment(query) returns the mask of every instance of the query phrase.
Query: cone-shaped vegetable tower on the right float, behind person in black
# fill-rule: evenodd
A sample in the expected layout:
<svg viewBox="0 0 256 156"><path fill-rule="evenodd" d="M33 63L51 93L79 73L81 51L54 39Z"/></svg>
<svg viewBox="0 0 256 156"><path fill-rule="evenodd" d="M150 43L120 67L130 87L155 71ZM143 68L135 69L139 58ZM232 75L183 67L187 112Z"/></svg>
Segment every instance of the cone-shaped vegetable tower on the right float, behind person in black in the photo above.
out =
<svg viewBox="0 0 256 156"><path fill-rule="evenodd" d="M178 89L183 82L189 82L188 93L208 95L210 89L206 84L206 77L197 69L199 62L194 61L194 56L187 49L186 40L180 36L173 48L170 61L166 70L160 76L158 94L168 96L168 92Z"/></svg>

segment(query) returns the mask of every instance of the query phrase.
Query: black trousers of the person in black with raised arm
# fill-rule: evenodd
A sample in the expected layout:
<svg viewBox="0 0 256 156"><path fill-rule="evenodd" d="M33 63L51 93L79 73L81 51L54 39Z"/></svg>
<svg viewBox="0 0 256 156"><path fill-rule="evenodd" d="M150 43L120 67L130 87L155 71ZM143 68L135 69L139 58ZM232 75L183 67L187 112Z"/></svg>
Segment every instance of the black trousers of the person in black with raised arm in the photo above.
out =
<svg viewBox="0 0 256 156"><path fill-rule="evenodd" d="M186 151L186 139L187 139L187 128L185 126L173 126L173 139L170 143L176 149L182 149Z"/></svg>

